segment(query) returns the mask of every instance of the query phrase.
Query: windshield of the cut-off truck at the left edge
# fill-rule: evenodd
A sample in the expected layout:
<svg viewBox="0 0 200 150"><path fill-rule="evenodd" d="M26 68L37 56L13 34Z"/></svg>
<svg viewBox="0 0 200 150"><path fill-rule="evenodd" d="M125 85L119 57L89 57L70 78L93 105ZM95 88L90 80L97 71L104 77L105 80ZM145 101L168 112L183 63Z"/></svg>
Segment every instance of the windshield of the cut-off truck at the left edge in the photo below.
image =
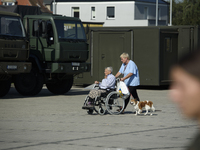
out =
<svg viewBox="0 0 200 150"><path fill-rule="evenodd" d="M25 37L25 30L19 17L0 15L0 35Z"/></svg>

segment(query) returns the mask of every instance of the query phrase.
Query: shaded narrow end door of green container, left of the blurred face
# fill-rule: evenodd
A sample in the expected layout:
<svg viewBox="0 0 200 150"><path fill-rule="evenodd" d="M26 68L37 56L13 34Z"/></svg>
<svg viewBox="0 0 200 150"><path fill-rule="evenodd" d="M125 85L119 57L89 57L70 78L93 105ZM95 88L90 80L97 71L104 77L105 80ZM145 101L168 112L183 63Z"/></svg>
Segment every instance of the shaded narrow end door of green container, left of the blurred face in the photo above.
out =
<svg viewBox="0 0 200 150"><path fill-rule="evenodd" d="M171 66L178 61L178 33L161 33L160 81L169 84Z"/></svg>

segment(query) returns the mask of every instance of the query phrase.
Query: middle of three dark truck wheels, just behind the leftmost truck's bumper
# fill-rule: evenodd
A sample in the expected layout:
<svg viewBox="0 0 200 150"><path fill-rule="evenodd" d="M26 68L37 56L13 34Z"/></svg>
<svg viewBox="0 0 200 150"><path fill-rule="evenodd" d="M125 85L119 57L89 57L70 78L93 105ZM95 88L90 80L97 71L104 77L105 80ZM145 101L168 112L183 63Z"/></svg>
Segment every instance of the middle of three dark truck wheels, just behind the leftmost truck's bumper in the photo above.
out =
<svg viewBox="0 0 200 150"><path fill-rule="evenodd" d="M44 78L37 69L32 69L30 73L17 75L14 84L21 95L34 96L42 90Z"/></svg>

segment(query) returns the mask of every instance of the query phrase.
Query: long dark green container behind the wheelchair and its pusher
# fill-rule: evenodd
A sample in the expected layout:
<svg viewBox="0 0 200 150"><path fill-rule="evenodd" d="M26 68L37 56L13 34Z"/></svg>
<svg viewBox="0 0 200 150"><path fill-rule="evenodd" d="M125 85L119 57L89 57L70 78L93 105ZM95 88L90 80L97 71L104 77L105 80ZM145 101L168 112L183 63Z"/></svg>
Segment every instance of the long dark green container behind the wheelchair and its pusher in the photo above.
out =
<svg viewBox="0 0 200 150"><path fill-rule="evenodd" d="M160 86L170 83L169 70L181 55L199 47L199 26L102 27L88 33L91 72L75 77L75 84L92 84L104 78L105 67L115 75L120 55L129 53L139 69L140 84Z"/></svg>

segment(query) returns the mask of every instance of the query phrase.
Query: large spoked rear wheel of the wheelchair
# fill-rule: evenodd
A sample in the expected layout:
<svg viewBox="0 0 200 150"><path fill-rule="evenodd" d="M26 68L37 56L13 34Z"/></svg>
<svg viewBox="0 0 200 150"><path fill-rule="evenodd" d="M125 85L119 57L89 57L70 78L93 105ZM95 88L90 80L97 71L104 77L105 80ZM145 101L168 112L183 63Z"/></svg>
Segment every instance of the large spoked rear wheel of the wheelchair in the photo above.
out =
<svg viewBox="0 0 200 150"><path fill-rule="evenodd" d="M106 98L106 109L112 115L120 114L124 109L124 99L120 97L119 92L111 92Z"/></svg>

